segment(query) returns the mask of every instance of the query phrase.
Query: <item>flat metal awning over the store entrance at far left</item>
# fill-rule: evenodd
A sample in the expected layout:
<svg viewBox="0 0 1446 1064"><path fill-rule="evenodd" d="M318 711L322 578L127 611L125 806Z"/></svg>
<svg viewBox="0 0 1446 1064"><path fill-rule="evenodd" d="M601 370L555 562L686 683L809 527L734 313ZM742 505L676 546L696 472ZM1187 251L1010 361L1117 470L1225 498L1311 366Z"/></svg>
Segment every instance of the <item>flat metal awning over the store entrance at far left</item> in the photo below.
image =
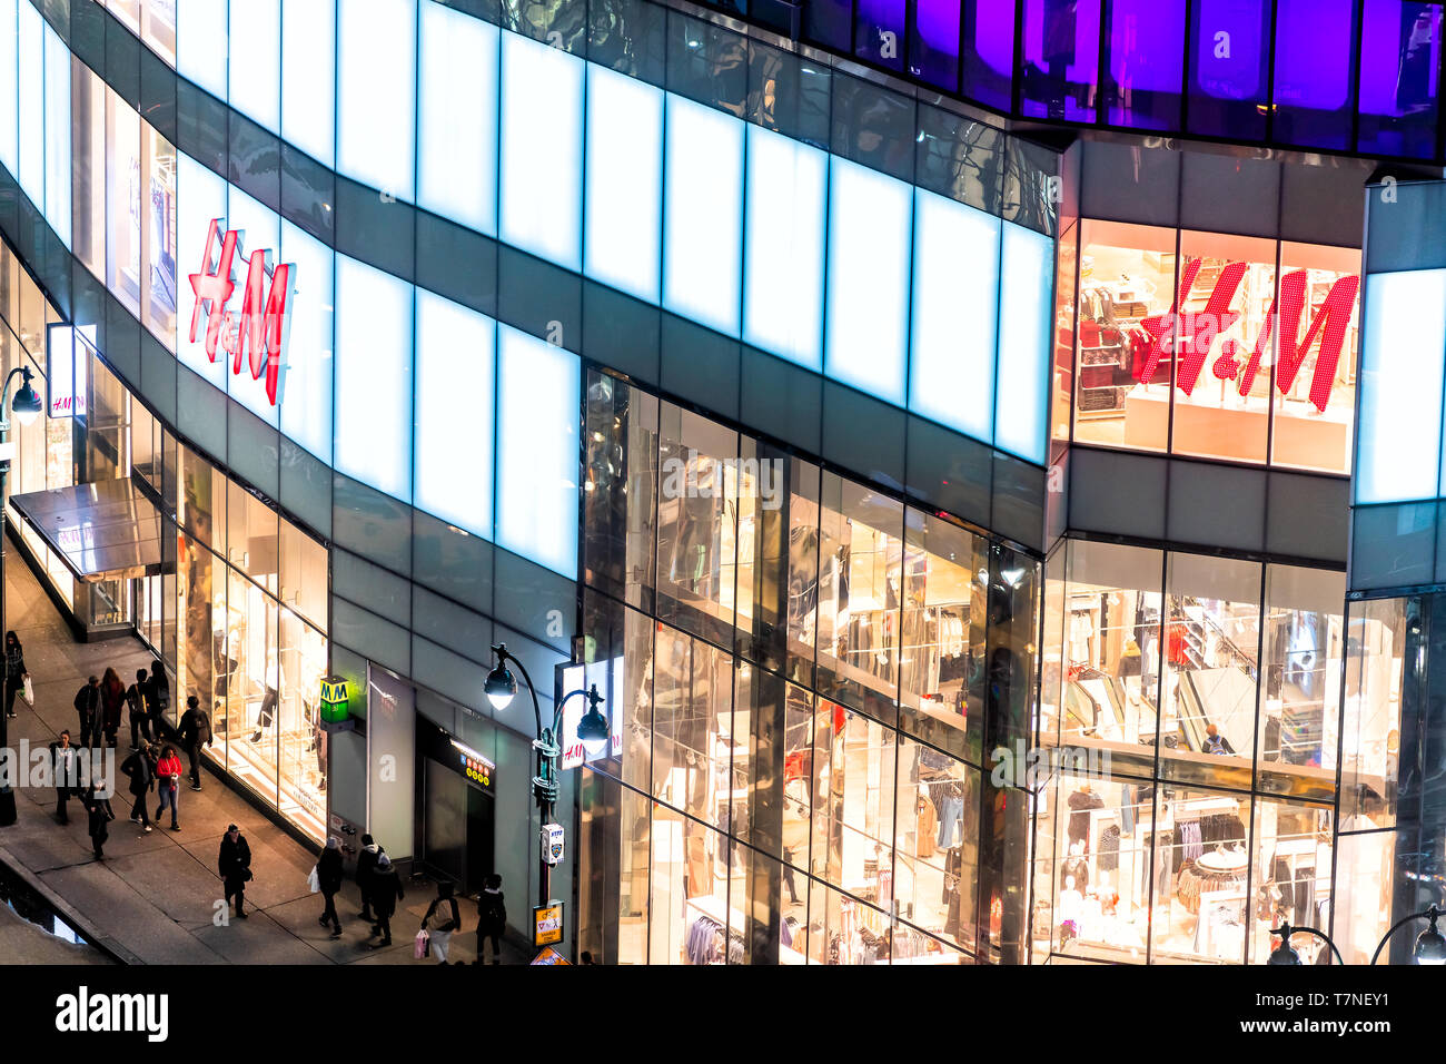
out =
<svg viewBox="0 0 1446 1064"><path fill-rule="evenodd" d="M78 580L161 572L161 511L129 476L12 495L10 505Z"/></svg>

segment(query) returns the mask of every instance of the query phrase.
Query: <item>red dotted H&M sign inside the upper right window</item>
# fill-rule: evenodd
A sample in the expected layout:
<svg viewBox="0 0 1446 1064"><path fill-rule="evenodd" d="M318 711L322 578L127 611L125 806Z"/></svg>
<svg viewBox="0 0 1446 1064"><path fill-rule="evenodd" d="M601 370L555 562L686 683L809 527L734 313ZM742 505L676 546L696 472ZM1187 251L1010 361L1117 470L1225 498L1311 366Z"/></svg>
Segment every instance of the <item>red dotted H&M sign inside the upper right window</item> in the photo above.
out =
<svg viewBox="0 0 1446 1064"><path fill-rule="evenodd" d="M1194 288L1194 278L1200 272L1203 259L1186 262L1184 274L1180 276L1180 292L1168 314L1157 314L1139 323L1145 330L1135 339L1139 346L1148 345L1144 359L1137 359L1134 378L1141 382L1151 382L1160 358L1178 346L1180 365L1176 371L1176 384L1189 395L1194 391L1200 379L1200 371L1210 353L1215 337L1229 329L1241 317L1232 311L1231 303L1235 291L1245 276L1245 263L1232 262L1220 271L1205 310L1200 313L1178 313L1180 304L1190 298ZM1304 340L1300 339L1300 316L1306 310L1306 285L1309 276L1304 269L1285 274L1280 279L1280 295L1265 314L1265 327L1255 339L1255 349L1244 363L1238 356L1245 355L1245 347L1231 339L1220 345L1220 356L1215 360L1212 372L1222 381L1236 381L1241 395L1246 395L1259 372L1261 352L1270 343L1271 332L1280 330L1280 356L1275 366L1275 387L1280 392L1288 394L1296 382L1310 346L1320 339L1320 355L1316 359L1316 372L1310 381L1310 401L1316 410L1325 413L1330 402L1330 389L1336 382L1336 366L1340 362L1340 349L1345 345L1346 327L1351 324L1351 311L1355 308L1356 292L1361 288L1359 276L1342 276L1330 285L1320 310L1310 318Z"/></svg>

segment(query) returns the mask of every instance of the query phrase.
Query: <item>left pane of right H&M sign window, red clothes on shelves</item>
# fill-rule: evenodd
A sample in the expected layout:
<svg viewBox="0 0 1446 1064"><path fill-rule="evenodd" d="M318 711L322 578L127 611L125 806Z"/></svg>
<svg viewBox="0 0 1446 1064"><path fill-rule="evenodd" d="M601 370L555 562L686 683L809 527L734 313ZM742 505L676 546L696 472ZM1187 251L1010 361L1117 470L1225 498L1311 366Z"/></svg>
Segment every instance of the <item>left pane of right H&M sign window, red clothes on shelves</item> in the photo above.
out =
<svg viewBox="0 0 1446 1064"><path fill-rule="evenodd" d="M1176 237L1173 229L1080 221L1074 336L1080 443L1138 450L1170 444L1174 359L1163 349L1174 337L1167 318L1176 291ZM1126 405L1131 398L1134 410Z"/></svg>

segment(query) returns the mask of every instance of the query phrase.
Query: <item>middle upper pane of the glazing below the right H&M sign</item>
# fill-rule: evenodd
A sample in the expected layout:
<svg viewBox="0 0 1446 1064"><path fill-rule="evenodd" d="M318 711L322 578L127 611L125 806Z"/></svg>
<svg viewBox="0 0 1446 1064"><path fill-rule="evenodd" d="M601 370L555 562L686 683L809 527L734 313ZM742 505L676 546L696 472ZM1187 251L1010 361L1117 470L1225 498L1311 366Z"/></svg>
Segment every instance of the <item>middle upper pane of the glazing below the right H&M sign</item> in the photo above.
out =
<svg viewBox="0 0 1446 1064"><path fill-rule="evenodd" d="M1160 686L1163 774L1249 789L1259 604L1259 565L1176 552L1168 556Z"/></svg>

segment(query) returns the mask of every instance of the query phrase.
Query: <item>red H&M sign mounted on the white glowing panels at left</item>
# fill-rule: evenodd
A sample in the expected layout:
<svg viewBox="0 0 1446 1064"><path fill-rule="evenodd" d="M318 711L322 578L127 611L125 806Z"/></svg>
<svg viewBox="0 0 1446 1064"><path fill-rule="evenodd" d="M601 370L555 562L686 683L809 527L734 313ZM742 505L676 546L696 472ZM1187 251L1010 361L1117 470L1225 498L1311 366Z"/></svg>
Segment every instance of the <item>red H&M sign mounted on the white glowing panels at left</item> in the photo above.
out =
<svg viewBox="0 0 1446 1064"><path fill-rule="evenodd" d="M221 236L220 253L215 239ZM220 347L231 356L231 372L240 373L249 365L252 379L266 375L266 398L276 405L281 384L282 355L286 349L289 330L288 308L291 303L291 265L272 268L270 252L253 250L246 265L246 287L241 290L241 311L236 314L226 308L236 291L231 263L236 259L241 235L234 229L221 233L221 219L211 219L205 235L205 255L201 272L191 274L191 291L195 292L195 308L191 311L191 343L201 324L205 310L205 355L215 362ZM243 250L244 256L246 252Z"/></svg>

